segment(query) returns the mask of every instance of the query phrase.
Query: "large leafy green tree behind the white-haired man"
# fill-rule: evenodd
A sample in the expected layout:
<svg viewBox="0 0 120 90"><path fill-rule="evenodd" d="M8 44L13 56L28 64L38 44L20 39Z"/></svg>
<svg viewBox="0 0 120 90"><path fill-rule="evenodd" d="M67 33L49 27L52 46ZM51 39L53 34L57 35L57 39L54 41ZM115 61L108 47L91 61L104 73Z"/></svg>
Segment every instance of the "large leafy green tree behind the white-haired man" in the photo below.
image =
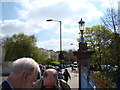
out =
<svg viewBox="0 0 120 90"><path fill-rule="evenodd" d="M34 35L27 36L23 33L6 38L4 41L5 61L14 61L21 57L31 57L37 62L45 61L47 55L40 52L36 46L36 41Z"/></svg>

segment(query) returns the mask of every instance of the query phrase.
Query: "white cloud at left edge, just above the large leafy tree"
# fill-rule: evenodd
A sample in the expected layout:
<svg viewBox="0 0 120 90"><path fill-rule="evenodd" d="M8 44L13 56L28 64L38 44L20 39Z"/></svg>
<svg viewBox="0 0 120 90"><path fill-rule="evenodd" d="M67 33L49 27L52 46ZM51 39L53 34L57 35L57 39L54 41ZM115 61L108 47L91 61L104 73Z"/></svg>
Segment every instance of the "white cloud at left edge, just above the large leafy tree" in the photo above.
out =
<svg viewBox="0 0 120 90"><path fill-rule="evenodd" d="M18 19L4 20L1 23L1 32L2 35L13 35L18 33L25 33L30 35L30 34L36 34L43 29L47 29L47 27L44 28L43 26L41 24L32 21L23 22Z"/></svg>

